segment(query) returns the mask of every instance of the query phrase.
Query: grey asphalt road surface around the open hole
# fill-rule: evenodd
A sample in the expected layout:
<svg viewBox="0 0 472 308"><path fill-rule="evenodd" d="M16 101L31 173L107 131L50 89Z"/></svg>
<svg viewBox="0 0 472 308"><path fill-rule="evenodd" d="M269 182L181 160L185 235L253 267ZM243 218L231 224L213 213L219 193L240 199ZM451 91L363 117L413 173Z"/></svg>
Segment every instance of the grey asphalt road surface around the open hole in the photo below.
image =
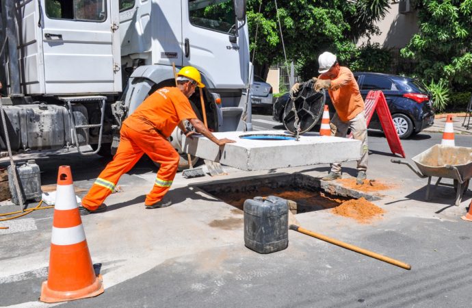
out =
<svg viewBox="0 0 472 308"><path fill-rule="evenodd" d="M271 116L253 115L254 130L283 129ZM439 133L419 133L402 140L407 157L441 142ZM471 146L471 136L456 136L456 145ZM424 201L426 179L393 157L382 133L369 131L370 179L397 185L377 205L386 211L373 224L333 217L328 210L297 216L306 229L367 248L412 265L403 270L352 251L289 231L289 247L259 255L244 247L242 215L233 207L189 187L178 175L170 192L174 205L142 208L156 168L148 159L124 175L124 192L107 201L111 210L83 218L87 240L104 277L105 293L64 303L64 307L470 307L472 294L471 222L460 220L472 197L451 205L454 190L440 185ZM83 196L107 159L77 154L37 159L43 185L55 183L57 166L73 168ZM0 162L5 166L7 162ZM328 166L270 172L305 172L319 176ZM230 177L266 176L237 172ZM343 165L346 177L355 163ZM200 178L212 185L218 179ZM2 206L1 212L17 209ZM0 230L0 305L47 307L38 303L47 279L53 211L36 211L18 219L15 233ZM220 222L215 227L215 222ZM13 223L13 222L12 222ZM16 225L17 224L17 225ZM18 227L19 228L19 227Z"/></svg>

